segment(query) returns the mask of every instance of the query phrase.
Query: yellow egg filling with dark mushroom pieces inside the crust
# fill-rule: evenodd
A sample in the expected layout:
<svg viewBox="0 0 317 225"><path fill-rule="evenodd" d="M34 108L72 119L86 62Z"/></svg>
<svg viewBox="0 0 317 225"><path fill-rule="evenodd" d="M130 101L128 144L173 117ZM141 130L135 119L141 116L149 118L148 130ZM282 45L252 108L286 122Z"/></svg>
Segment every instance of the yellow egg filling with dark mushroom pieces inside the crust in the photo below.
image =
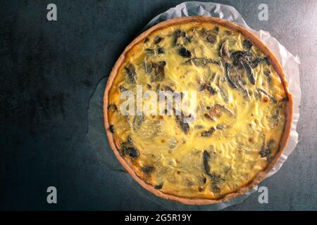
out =
<svg viewBox="0 0 317 225"><path fill-rule="evenodd" d="M248 184L272 160L285 127L286 94L266 56L248 44L242 34L227 27L186 23L156 31L128 52L109 92L109 124L120 154L148 184L180 197L215 199ZM182 48L190 56L180 53ZM244 58L242 64L235 63L237 51L251 53L247 64L255 84ZM159 62L165 65L163 78L157 79L151 77L155 73L151 63L157 67ZM135 83L126 69L131 64ZM240 84L235 88L228 79ZM164 86L197 91L197 115L188 123L189 131L182 129L175 115L122 115L121 91L124 87L135 93L136 84L143 91ZM124 149L127 143L137 155Z"/></svg>

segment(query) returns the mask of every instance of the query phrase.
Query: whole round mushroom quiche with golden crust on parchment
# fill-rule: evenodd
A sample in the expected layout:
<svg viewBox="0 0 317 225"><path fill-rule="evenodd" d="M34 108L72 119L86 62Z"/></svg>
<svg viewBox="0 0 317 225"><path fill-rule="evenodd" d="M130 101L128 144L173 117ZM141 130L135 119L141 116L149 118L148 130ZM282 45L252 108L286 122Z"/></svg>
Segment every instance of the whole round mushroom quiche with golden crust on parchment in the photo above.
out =
<svg viewBox="0 0 317 225"><path fill-rule="evenodd" d="M147 91L158 102L150 113ZM161 110L167 91L181 103L189 92L194 98L184 110L175 103ZM123 112L138 104L141 111ZM151 193L190 205L256 186L282 153L291 120L277 58L244 27L219 18L175 18L140 34L118 58L104 94L106 134L123 167Z"/></svg>

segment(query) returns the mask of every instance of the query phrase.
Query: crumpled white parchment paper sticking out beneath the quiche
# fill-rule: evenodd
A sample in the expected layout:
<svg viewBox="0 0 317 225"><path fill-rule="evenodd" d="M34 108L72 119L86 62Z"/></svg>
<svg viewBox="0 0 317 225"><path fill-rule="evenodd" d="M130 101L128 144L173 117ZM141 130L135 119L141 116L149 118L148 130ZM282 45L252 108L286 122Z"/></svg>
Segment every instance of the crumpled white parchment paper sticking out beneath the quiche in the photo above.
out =
<svg viewBox="0 0 317 225"><path fill-rule="evenodd" d="M296 131L297 122L299 120L299 103L301 99L301 89L299 85L299 57L293 56L290 51L287 51L284 46L282 46L275 38L271 37L268 32L263 30L255 31L252 30L242 18L242 15L238 13L235 8L232 6L226 6L223 4L215 4L211 2L199 2L199 1L187 1L174 8L170 8L168 11L157 15L153 18L144 30L147 30L149 27L156 25L164 20L168 20L170 18L176 17L184 17L191 15L208 15L218 18L223 18L225 20L232 21L234 23L238 23L247 29L251 30L257 37L259 37L270 49L275 53L278 60L285 70L286 79L289 83L289 89L294 98L294 114L292 120L292 130L290 132L290 139L287 142L287 146L285 150L283 150L278 163L271 170L268 176L272 176L280 167L282 167L283 162L287 160L288 155L292 153L294 148L298 142L298 134ZM108 76L104 79L101 79L99 82L97 89L94 92L94 95L90 99L89 110L88 110L88 120L89 120L89 131L87 134L87 138L92 143L92 146L95 148L96 153L99 155L101 160L105 163L105 165L116 171L118 173L124 173L128 184L130 184L131 188L137 190L140 198L146 198L154 203L158 203L159 205L166 207L169 210L222 210L225 207L230 205L236 205L241 203L244 199L246 199L251 193L256 191L256 188L251 189L248 193L226 201L224 203L218 203L214 205L202 205L202 206L192 206L192 205L183 205L181 203L175 203L170 200L163 200L162 198L156 197L156 195L149 193L149 191L139 186L137 182L132 179L132 177L125 172L123 167L120 165L116 156L113 154L110 146L108 145L108 140L106 138L106 131L104 129L104 118L103 118L103 97L104 97L104 89L106 87ZM134 200L138 200L138 198L134 198ZM139 203L135 203L135 210L139 210Z"/></svg>

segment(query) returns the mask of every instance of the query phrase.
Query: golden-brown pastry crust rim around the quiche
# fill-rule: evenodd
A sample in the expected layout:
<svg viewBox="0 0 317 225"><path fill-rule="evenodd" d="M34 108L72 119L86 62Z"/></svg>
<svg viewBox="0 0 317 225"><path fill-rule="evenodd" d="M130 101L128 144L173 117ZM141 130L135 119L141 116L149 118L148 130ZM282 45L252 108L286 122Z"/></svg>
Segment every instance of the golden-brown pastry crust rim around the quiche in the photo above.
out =
<svg viewBox="0 0 317 225"><path fill-rule="evenodd" d="M227 193L225 195L217 196L217 198L190 198L187 196L181 196L181 195L175 195L170 193L163 193L163 191L160 191L156 188L154 188L153 184L149 184L146 179L144 179L144 176L140 174L139 172L136 172L135 167L131 165L130 162L125 160L122 155L120 155L119 147L121 143L119 143L118 140L116 140L113 136L113 133L109 130L110 124L109 124L109 117L108 117L108 106L109 106L109 91L111 90L111 87L113 86L113 82L116 79L117 75L119 74L120 68L123 67L123 63L125 63L125 59L127 58L127 55L131 49L133 49L137 44L144 41L147 37L149 37L154 32L157 32L159 30L163 30L166 27L171 27L175 25L182 25L186 23L213 23L217 25L221 25L224 27L227 27L229 30L233 30L236 32L240 32L244 37L249 39L251 42L253 42L254 46L256 46L261 52L264 53L265 56L267 56L271 62L271 65L273 66L275 72L278 73L280 80L282 82L282 86L284 87L285 96L288 98L288 101L285 102L284 107L284 114L285 114L285 127L284 131L282 132L282 138L280 139L279 148L276 150L276 153L274 157L271 159L271 162L266 165L264 169L261 170L261 172L257 173L254 178L249 181L249 183L244 184L243 186L240 186L237 188L236 191ZM109 144L111 148L113 149L113 153L118 158L119 162L123 167L127 170L127 172L144 188L146 188L148 191L151 191L151 193L154 193L155 195L158 195L161 198L166 198L168 200L175 200L180 203L185 203L189 205L206 205L206 204L213 204L213 203L220 203L225 200L230 200L231 198L235 198L239 195L242 195L249 191L250 188L256 186L259 184L261 180L268 174L268 172L274 167L275 163L278 161L278 158L280 157L282 150L285 148L285 145L287 143L287 139L290 135L290 127L292 123L292 95L287 89L287 82L285 80L285 73L282 70L282 66L278 62L277 58L273 55L273 53L268 49L268 47L261 42L254 34L249 32L249 30L245 29L244 27L240 25L236 25L234 23L230 23L226 20L221 20L219 18L210 18L210 17L203 17L203 16L193 16L193 17L186 17L186 18L175 18L172 20L167 20L163 23L159 23L158 25L155 25L154 27L151 27L146 32L142 33L137 37L134 41L132 41L129 46L123 51L121 56L118 58L116 64L113 67L113 70L111 71L111 75L108 78L108 83L106 85L106 90L104 94L104 124L106 127L106 134L108 137Z"/></svg>

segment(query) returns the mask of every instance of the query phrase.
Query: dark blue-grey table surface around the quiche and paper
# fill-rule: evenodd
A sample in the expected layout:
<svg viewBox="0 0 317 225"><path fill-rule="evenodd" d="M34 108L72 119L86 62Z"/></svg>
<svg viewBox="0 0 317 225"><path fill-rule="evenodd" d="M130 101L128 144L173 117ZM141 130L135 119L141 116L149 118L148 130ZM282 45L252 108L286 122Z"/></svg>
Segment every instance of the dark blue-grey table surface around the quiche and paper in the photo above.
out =
<svg viewBox="0 0 317 225"><path fill-rule="evenodd" d="M46 6L57 5L56 22ZM164 210L115 176L87 139L89 99L151 18L181 1L1 1L0 209ZM218 1L217 1L218 2ZM299 143L282 169L227 210L317 210L317 1L219 1L301 60ZM268 21L258 18L268 5ZM56 186L58 203L46 203Z"/></svg>

